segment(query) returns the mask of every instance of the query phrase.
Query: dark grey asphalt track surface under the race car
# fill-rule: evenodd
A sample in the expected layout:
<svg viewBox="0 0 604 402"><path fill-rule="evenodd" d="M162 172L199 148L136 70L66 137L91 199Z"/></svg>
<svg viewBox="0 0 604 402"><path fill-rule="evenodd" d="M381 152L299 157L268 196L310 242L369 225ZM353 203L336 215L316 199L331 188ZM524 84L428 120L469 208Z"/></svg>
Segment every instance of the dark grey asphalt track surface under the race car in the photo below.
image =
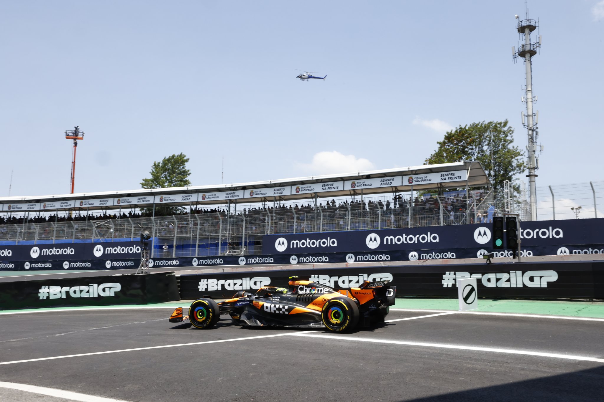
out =
<svg viewBox="0 0 604 402"><path fill-rule="evenodd" d="M604 395L603 319L397 309L388 319L399 321L333 334L243 328L228 316L197 330L170 324L171 312L0 315L0 400L602 401ZM33 394L6 383L83 396Z"/></svg>

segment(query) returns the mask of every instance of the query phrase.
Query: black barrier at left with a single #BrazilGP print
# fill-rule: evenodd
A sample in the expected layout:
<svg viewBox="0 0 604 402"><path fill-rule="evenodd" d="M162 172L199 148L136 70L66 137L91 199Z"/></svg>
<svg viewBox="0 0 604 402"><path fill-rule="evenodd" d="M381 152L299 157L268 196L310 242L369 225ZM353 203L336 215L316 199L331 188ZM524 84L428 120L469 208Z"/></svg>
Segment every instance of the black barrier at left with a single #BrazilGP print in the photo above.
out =
<svg viewBox="0 0 604 402"><path fill-rule="evenodd" d="M115 306L180 300L176 275L112 275L0 283L0 310Z"/></svg>

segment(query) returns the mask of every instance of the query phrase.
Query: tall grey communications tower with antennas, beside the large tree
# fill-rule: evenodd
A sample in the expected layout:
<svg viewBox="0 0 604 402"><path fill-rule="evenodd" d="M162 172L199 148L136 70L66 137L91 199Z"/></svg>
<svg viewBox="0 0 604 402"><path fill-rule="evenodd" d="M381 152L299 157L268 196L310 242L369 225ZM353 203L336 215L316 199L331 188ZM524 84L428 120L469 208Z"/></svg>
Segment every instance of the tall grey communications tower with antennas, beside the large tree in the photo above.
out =
<svg viewBox="0 0 604 402"><path fill-rule="evenodd" d="M537 194L535 178L537 177L536 171L539 168L538 160L535 156L537 151L542 151L542 146L537 145L537 137L539 131L537 123L539 120L539 112L533 111L533 102L537 101L537 97L533 96L533 76L532 76L532 58L537 54L539 48L541 48L541 35L539 35L538 42L531 42L530 34L539 27L539 20L528 18L528 8L526 8L525 19L518 19L518 25L516 30L523 39L522 44L518 45L518 51L512 46L512 53L514 55L514 61L516 58L524 58L524 66L526 68L526 85L524 86L525 96L522 96L522 102L526 104L526 113L522 112L522 125L527 128L528 131L528 145L527 145L527 169L528 169L528 184L529 184L529 206L530 206L530 220L537 220ZM526 118L526 120L525 120Z"/></svg>

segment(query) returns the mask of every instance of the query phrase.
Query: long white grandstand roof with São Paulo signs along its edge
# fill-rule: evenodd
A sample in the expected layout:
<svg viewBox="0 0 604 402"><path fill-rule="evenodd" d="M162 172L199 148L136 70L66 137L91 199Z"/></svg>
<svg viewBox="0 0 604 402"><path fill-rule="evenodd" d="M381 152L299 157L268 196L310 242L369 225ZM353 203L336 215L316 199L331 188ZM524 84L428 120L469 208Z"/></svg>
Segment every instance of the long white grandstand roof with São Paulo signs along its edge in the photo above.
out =
<svg viewBox="0 0 604 402"><path fill-rule="evenodd" d="M2 212L137 208L152 204L185 206L408 192L438 188L480 187L489 183L480 162L408 166L379 171L295 177L252 183L168 187L43 196L0 197Z"/></svg>

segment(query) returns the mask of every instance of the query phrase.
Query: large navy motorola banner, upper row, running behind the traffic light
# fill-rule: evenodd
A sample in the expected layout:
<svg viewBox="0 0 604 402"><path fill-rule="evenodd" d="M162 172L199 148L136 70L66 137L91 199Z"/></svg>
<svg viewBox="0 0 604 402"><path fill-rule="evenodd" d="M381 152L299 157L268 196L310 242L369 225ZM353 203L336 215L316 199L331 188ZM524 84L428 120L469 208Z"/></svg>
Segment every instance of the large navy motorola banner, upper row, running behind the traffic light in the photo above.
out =
<svg viewBox="0 0 604 402"><path fill-rule="evenodd" d="M519 237L522 247L559 245L580 249L582 245L604 243L602 225L604 218L521 222ZM458 248L490 250L491 230L492 224L470 224L374 231L269 234L262 237L262 254Z"/></svg>

